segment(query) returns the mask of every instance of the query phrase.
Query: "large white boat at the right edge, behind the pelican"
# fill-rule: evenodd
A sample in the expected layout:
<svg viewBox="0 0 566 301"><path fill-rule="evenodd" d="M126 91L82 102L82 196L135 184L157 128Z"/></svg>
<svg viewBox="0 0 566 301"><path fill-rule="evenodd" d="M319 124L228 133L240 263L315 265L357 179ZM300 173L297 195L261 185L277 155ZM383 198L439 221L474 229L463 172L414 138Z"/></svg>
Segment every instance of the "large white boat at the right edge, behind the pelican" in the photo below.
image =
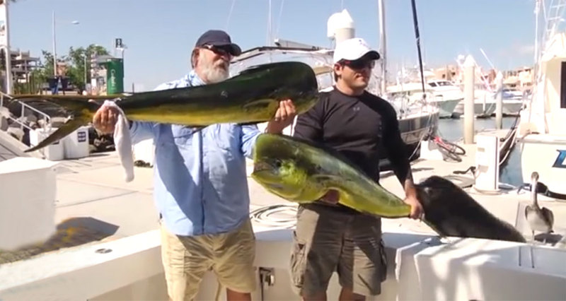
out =
<svg viewBox="0 0 566 301"><path fill-rule="evenodd" d="M550 191L566 194L566 33L549 37L538 64L531 101L521 111L518 146L521 172L538 172Z"/></svg>

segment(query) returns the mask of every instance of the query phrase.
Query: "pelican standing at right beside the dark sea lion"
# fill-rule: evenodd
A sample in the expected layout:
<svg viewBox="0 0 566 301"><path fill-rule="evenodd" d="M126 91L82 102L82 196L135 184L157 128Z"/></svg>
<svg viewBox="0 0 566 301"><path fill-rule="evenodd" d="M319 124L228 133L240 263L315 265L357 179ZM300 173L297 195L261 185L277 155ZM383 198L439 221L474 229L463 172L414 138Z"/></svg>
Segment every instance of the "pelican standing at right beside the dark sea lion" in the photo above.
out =
<svg viewBox="0 0 566 301"><path fill-rule="evenodd" d="M533 172L531 175L531 199L533 203L525 207L525 218L529 222L531 232L533 233L533 240L535 239L535 231L543 233L553 232L554 215L553 211L548 208L541 208L538 206L536 185L538 184L538 172ZM546 237L544 239L546 242Z"/></svg>

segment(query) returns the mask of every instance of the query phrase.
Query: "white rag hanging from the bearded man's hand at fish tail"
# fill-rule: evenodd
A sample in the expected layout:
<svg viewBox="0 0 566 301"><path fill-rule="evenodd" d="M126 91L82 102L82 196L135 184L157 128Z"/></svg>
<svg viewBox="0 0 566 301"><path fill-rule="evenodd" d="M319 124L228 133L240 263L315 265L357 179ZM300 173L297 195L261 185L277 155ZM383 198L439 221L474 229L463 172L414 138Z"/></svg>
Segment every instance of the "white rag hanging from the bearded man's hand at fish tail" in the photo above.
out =
<svg viewBox="0 0 566 301"><path fill-rule="evenodd" d="M134 179L134 155L132 153L132 137L129 136L129 125L126 114L115 102L105 100L103 107L115 107L120 114L114 128L114 147L120 158L120 163L124 167L126 182L132 182Z"/></svg>

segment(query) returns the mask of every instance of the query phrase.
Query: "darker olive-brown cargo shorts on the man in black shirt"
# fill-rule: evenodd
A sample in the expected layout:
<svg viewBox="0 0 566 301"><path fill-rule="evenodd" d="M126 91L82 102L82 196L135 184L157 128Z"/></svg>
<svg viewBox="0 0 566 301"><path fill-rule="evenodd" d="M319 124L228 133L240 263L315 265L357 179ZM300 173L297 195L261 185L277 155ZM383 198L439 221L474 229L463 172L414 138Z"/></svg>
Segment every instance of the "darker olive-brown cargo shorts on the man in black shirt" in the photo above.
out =
<svg viewBox="0 0 566 301"><path fill-rule="evenodd" d="M381 219L324 205L299 206L289 269L298 295L325 292L334 272L342 287L379 295L387 276Z"/></svg>

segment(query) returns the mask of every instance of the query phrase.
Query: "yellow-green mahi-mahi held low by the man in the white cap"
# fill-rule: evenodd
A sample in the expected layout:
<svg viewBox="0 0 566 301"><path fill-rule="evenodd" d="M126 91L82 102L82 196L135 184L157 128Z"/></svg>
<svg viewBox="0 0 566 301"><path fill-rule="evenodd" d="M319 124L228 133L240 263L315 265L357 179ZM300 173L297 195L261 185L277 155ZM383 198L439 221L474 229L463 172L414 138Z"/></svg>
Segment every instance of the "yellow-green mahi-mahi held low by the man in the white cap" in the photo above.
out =
<svg viewBox="0 0 566 301"><path fill-rule="evenodd" d="M337 154L298 138L261 134L255 143L251 177L289 201L318 201L330 189L354 210L386 218L409 216L410 206Z"/></svg>

